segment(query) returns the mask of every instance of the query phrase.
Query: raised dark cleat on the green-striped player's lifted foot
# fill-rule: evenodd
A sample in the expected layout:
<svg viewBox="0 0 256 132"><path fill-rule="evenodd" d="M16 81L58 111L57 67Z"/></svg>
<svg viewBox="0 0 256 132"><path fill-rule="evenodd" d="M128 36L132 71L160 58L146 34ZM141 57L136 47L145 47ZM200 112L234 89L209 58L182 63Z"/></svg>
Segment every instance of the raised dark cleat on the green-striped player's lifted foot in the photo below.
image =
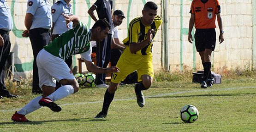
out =
<svg viewBox="0 0 256 132"><path fill-rule="evenodd" d="M60 112L61 108L59 105L57 105L56 103L54 103L51 99L49 98L42 98L39 100L38 102L41 106L46 106L48 108L50 108L51 110L53 110L54 112Z"/></svg>

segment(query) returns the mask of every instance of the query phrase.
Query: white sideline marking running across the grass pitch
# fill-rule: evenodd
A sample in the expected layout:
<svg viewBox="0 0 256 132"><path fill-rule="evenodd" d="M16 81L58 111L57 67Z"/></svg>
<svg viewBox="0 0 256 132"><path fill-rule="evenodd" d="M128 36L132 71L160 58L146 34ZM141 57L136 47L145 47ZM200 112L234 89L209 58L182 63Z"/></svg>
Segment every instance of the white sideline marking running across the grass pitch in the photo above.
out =
<svg viewBox="0 0 256 132"><path fill-rule="evenodd" d="M237 87L237 88L221 88L221 89L198 89L198 90L191 90L191 91L180 91L180 92L172 92L172 93L162 93L158 95L152 95L152 96L145 96L145 98L153 98L153 97L163 97L163 96L168 96L168 95L175 95L175 94L181 94L181 93L194 93L194 92L208 92L208 91L224 91L224 90L237 90L237 89L244 89L244 88L256 88L256 86L252 87ZM131 99L136 99L135 97L133 98L127 98L127 99L113 99L113 101L126 101L126 100L131 100ZM65 106L65 105L79 105L79 104L91 104L91 103L103 103L103 101L92 101L92 102L78 102L78 103L68 103L68 104L60 104L60 106ZM10 111L15 111L15 110L20 110L21 108L17 109L12 109L12 110L1 110L1 112L10 112Z"/></svg>

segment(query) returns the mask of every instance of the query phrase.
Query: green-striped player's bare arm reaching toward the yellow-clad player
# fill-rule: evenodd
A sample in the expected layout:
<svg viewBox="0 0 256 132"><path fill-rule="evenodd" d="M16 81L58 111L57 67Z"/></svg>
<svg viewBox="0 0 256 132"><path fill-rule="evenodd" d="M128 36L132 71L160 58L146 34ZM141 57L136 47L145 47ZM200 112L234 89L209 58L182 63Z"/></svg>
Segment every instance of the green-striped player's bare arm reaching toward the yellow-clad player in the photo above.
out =
<svg viewBox="0 0 256 132"><path fill-rule="evenodd" d="M101 68L99 66L95 66L91 61L84 60L87 70L94 73L113 73L119 72L119 68L116 66L111 66L108 68Z"/></svg>

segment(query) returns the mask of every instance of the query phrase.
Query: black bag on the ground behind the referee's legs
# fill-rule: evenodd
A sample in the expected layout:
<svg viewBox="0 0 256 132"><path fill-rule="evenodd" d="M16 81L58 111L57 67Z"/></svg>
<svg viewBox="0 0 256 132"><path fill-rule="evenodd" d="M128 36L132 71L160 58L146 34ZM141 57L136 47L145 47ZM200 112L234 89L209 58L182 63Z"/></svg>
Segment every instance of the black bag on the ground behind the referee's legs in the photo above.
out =
<svg viewBox="0 0 256 132"><path fill-rule="evenodd" d="M220 84L221 83L221 75L216 74L213 71L211 71L211 73L212 73L212 77L214 78L214 83ZM192 82L202 83L203 71L193 72L192 74L193 74Z"/></svg>

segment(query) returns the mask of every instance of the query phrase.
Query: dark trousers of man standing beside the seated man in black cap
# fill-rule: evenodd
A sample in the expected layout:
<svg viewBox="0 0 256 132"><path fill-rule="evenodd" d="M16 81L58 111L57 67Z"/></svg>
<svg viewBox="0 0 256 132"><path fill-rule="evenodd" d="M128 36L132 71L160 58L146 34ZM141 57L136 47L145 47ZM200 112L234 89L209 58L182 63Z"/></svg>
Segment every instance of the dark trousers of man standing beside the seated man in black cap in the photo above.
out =
<svg viewBox="0 0 256 132"><path fill-rule="evenodd" d="M106 68L110 57L111 57L111 40L112 34L108 34L107 38L101 42L97 42L97 52L96 52L96 65L99 67ZM106 74L96 74L96 85L105 83Z"/></svg>

